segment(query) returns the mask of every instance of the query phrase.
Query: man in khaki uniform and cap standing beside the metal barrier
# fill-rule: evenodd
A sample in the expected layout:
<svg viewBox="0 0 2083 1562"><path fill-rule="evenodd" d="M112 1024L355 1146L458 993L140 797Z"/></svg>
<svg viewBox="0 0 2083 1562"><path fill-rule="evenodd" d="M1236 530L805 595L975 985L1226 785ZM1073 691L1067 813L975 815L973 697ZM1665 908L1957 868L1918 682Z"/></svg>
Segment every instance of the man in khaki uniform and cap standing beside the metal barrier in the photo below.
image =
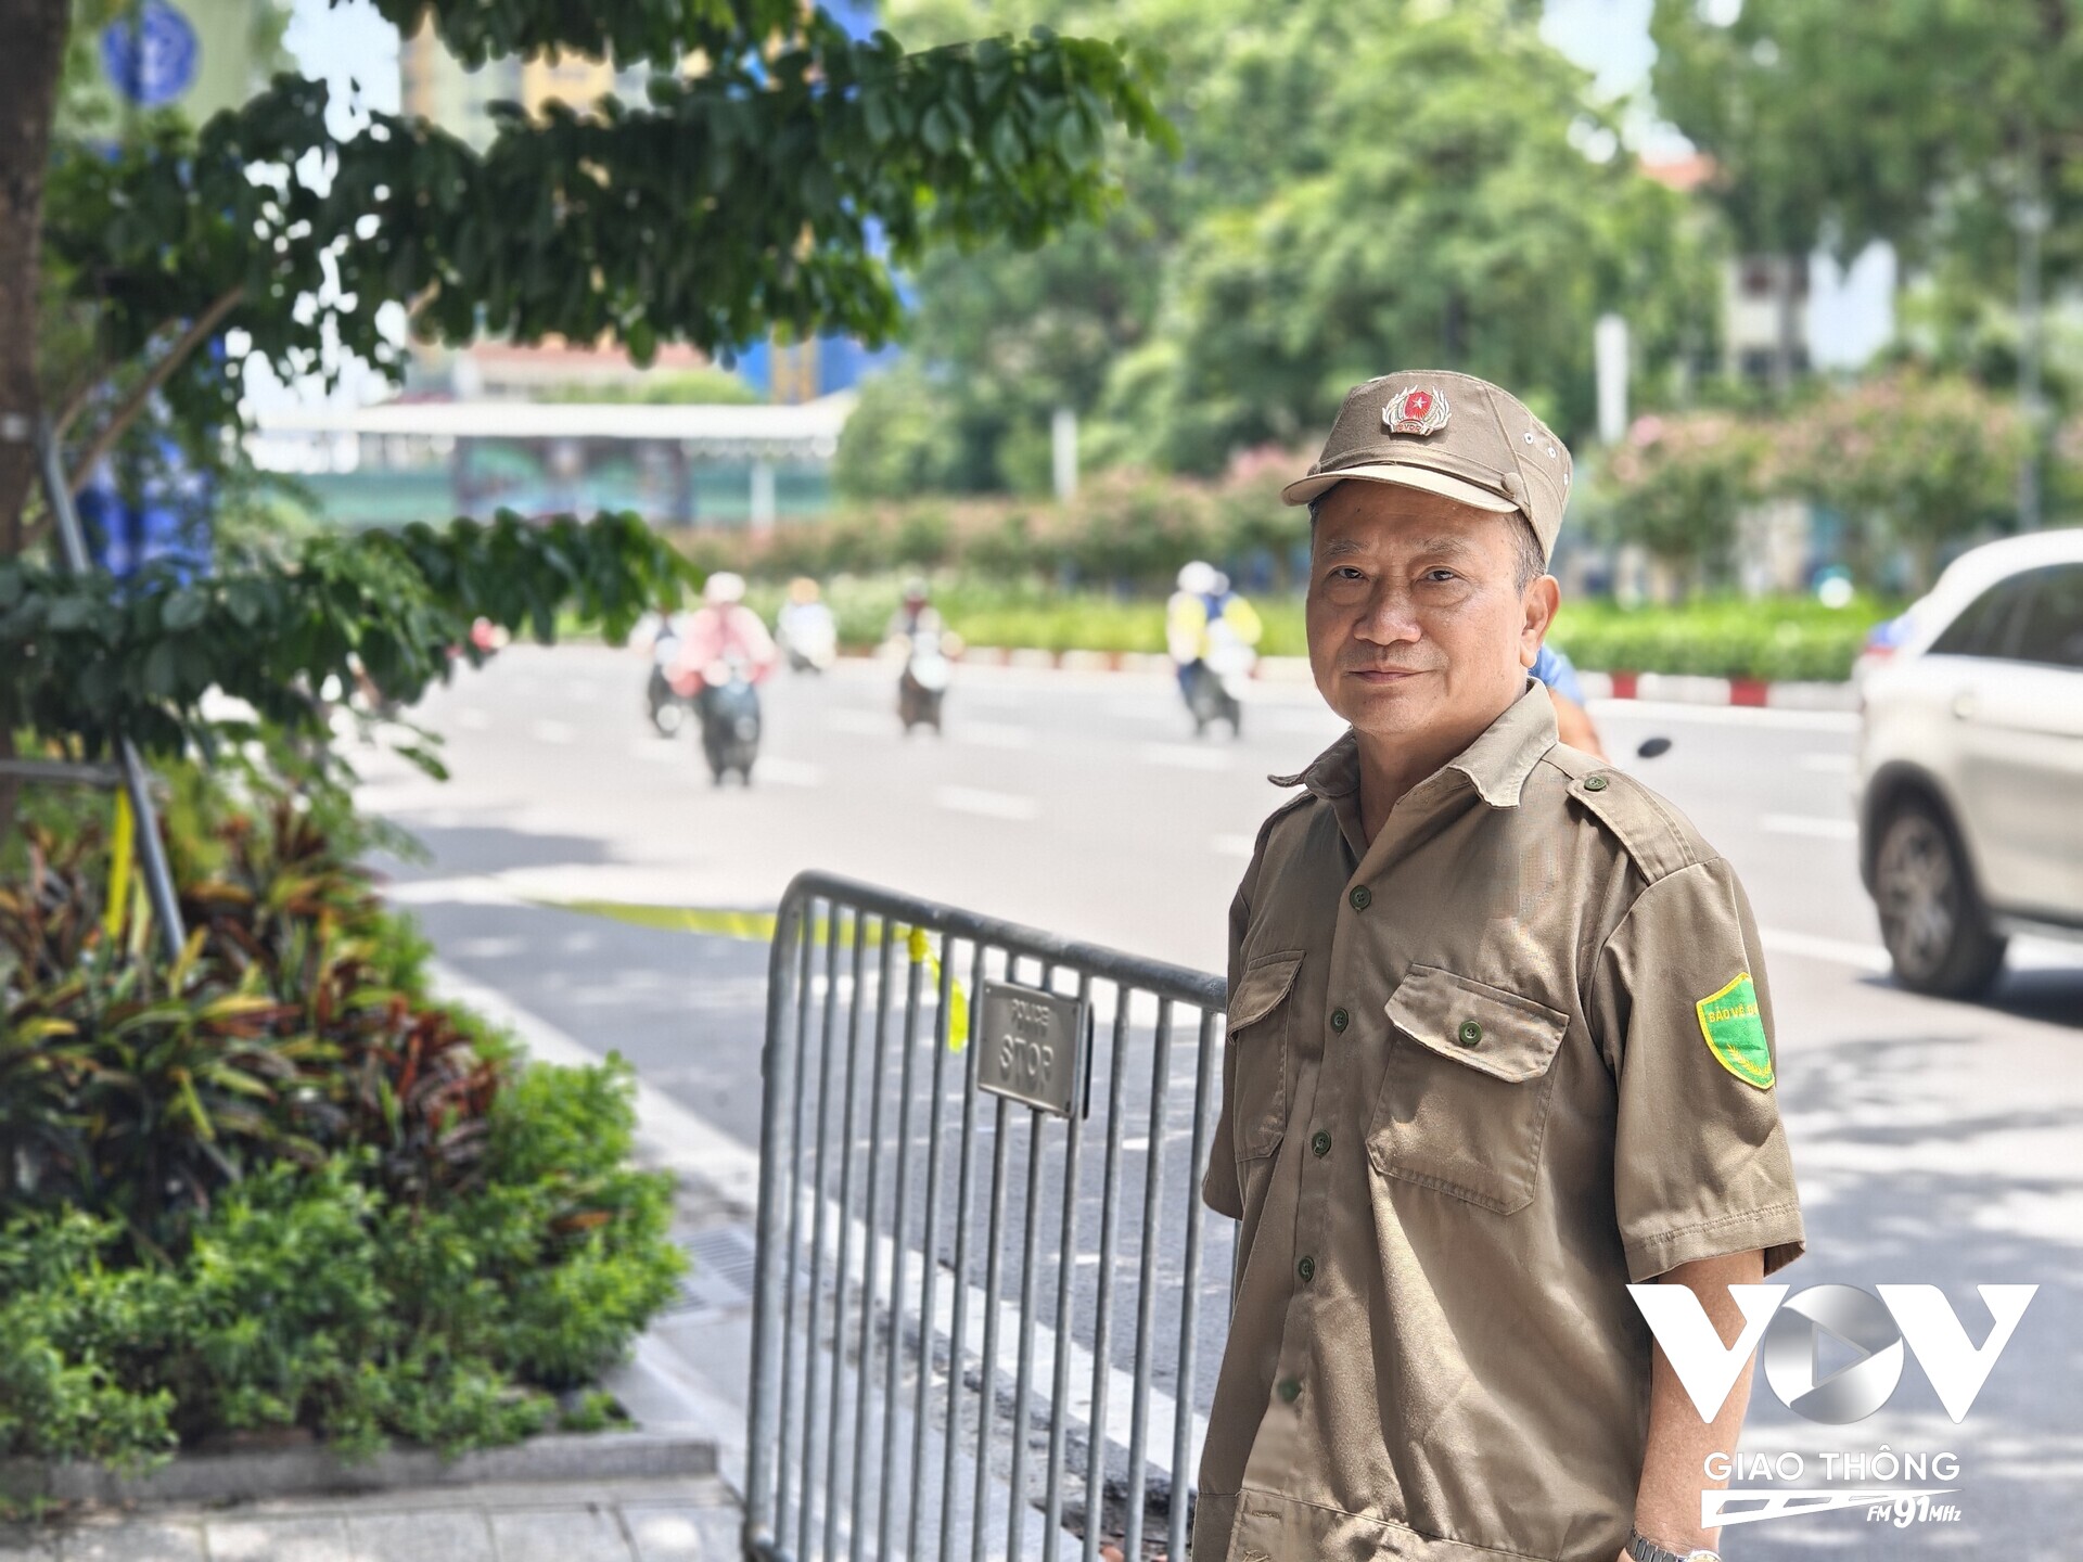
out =
<svg viewBox="0 0 2083 1562"><path fill-rule="evenodd" d="M1702 1422L1629 1283L1802 1254L1771 1000L1729 864L1556 744L1527 669L1571 462L1464 375L1358 385L1310 504L1316 687L1231 906L1206 1179L1241 1264L1202 1562L1662 1562L1712 1547ZM1631 1537L1631 1525L1641 1539ZM1712 1552L1708 1552L1712 1556Z"/></svg>

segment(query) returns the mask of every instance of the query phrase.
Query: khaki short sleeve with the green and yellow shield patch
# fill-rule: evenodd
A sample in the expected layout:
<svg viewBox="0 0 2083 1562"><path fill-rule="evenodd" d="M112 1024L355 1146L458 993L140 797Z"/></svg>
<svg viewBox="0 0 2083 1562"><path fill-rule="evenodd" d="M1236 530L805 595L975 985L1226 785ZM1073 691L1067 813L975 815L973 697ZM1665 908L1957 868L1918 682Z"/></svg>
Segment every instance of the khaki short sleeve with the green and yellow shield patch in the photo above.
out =
<svg viewBox="0 0 2083 1562"><path fill-rule="evenodd" d="M1598 956L1589 1008L1618 1091L1612 1198L1629 1281L1752 1248L1766 1275L1800 1258L1771 989L1725 858L1635 898Z"/></svg>

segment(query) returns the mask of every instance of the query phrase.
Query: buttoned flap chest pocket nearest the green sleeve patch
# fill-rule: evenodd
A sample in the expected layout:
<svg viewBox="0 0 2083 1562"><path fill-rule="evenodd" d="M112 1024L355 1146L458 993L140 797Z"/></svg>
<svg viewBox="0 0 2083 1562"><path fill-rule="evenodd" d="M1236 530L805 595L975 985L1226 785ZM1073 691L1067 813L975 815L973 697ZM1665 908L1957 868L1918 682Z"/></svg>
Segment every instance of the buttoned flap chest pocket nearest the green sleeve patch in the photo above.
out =
<svg viewBox="0 0 2083 1562"><path fill-rule="evenodd" d="M1423 964L1387 1012L1389 1062L1366 1131L1375 1170L1498 1214L1523 1210L1568 1014Z"/></svg>

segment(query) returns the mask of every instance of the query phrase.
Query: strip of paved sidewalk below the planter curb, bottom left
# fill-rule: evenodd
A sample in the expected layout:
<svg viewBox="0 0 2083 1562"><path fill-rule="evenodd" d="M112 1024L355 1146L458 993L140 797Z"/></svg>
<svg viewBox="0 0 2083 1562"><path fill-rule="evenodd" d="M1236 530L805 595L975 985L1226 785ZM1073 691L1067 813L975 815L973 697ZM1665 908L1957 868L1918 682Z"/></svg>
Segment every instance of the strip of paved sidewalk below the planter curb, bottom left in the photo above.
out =
<svg viewBox="0 0 2083 1562"><path fill-rule="evenodd" d="M735 1562L737 1527L717 1477L442 1487L0 1529L0 1562Z"/></svg>

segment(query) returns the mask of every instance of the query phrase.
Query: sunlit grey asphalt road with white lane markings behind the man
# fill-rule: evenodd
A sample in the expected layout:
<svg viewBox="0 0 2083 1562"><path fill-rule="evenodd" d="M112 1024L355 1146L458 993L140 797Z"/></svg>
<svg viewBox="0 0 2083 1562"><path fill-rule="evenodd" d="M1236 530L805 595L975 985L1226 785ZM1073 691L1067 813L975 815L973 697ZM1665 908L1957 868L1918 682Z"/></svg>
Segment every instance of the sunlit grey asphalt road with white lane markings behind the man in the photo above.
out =
<svg viewBox="0 0 2083 1562"><path fill-rule="evenodd" d="M1258 821L1337 733L1306 687L1254 685L1246 733L1196 741L1173 687L1135 675L964 669L944 739L900 735L894 675L783 679L752 789L714 789L689 739L642 719L642 662L512 648L419 712L452 781L371 762L365 802L431 860L396 893L442 958L679 1104L756 1139L764 946L639 925L629 908L771 908L808 866L1058 933L1221 968L1229 896ZM1962 1425L1910 1366L1856 1427L1816 1427L1762 1385L1746 1450L1952 1450L1964 1518L1864 1514L1731 1527L1739 1556L2068 1556L2083 1527L2083 950L2021 943L1987 1004L1887 983L1854 866L1852 716L1600 704L1616 754L1739 868L1764 929L1779 1095L1816 1283L1946 1287L1966 1331L1977 1283L2037 1283ZM585 904L592 910L573 910ZM602 914L608 908L614 914ZM637 921L631 921L637 918ZM1885 1537L1883 1537L1885 1535Z"/></svg>

